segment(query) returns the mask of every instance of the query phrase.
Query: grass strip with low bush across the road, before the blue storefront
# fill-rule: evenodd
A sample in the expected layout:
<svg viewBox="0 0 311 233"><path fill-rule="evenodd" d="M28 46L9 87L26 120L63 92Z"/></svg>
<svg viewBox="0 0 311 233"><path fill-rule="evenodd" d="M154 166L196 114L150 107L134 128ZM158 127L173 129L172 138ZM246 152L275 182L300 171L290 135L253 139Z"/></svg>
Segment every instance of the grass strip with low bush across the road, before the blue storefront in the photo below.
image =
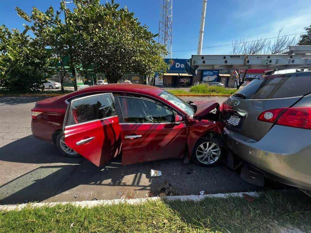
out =
<svg viewBox="0 0 311 233"><path fill-rule="evenodd" d="M209 86L207 84L198 84L186 90L168 90L172 94L234 94L236 89L224 88L221 86Z"/></svg>

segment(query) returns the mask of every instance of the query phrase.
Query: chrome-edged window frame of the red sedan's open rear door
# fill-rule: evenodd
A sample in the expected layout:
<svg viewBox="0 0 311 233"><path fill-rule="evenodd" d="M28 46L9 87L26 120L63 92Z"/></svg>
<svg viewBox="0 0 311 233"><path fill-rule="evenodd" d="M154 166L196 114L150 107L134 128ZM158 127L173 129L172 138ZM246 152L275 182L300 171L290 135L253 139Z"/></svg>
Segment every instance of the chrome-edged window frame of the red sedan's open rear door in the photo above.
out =
<svg viewBox="0 0 311 233"><path fill-rule="evenodd" d="M111 117L118 116L117 111L116 111L115 115L113 115L113 116L104 117L104 118L100 118L100 119L95 119L95 120L91 120L91 121L85 121L85 122L77 123L77 124L74 124L74 125L67 125L68 115L69 115L70 110L72 109L72 105L73 105L74 102L79 101L81 99L86 99L86 98L91 98L91 97L94 97L94 96L101 96L101 95L110 95L110 97L112 99L112 103L114 104L114 108L116 109L114 95L111 92L94 94L94 95L87 95L87 96L83 96L83 97L80 97L80 98L72 99L69 102L69 104L67 105L67 109L66 109L66 113L65 113L65 118L64 118L64 121L63 121L63 127L62 127L63 131L65 129L69 128L69 127L83 125L83 124L87 124L87 123L91 123L91 122L95 122L95 121L100 121L100 120L103 120L103 119L108 119L108 118L111 118Z"/></svg>

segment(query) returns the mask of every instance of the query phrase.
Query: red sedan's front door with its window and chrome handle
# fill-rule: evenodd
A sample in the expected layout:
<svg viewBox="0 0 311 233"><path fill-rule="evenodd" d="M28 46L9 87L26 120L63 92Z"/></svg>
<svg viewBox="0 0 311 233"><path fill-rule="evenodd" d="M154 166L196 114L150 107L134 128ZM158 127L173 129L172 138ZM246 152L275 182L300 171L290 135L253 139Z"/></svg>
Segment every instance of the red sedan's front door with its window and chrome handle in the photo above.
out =
<svg viewBox="0 0 311 233"><path fill-rule="evenodd" d="M119 102L123 165L183 156L186 124L175 125L169 107L146 98L119 97Z"/></svg>

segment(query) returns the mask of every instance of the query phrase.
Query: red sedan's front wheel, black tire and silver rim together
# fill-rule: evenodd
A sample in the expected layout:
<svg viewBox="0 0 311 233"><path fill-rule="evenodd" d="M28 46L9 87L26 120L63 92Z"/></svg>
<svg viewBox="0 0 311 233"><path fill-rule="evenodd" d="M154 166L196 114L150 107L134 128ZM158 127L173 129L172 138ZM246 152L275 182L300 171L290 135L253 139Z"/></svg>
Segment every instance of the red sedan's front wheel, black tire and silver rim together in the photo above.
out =
<svg viewBox="0 0 311 233"><path fill-rule="evenodd" d="M197 165L212 167L220 163L224 152L216 139L200 138L193 148L192 160Z"/></svg>

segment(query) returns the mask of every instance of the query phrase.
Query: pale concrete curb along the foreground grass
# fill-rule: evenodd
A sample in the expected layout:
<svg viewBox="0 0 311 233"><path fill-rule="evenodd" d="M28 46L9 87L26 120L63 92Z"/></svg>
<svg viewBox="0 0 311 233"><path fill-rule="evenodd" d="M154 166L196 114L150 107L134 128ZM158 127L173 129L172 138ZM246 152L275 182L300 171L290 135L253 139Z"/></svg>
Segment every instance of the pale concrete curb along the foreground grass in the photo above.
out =
<svg viewBox="0 0 311 233"><path fill-rule="evenodd" d="M201 201L205 198L228 198L228 197L243 197L242 194L248 194L252 197L260 196L260 192L241 192L241 193L219 193L219 194L207 194L207 195L184 195L184 196L167 196L167 197L148 197L148 198L136 198L136 199L114 199L114 200L95 200L95 201L73 201L73 202L50 202L50 203L25 203L16 205L0 205L0 211L19 211L23 208L39 208L43 206L52 207L55 205L72 204L77 207L94 207L98 205L116 205L120 203L126 203L130 205L141 204L147 201L157 200L169 200L169 201Z"/></svg>

